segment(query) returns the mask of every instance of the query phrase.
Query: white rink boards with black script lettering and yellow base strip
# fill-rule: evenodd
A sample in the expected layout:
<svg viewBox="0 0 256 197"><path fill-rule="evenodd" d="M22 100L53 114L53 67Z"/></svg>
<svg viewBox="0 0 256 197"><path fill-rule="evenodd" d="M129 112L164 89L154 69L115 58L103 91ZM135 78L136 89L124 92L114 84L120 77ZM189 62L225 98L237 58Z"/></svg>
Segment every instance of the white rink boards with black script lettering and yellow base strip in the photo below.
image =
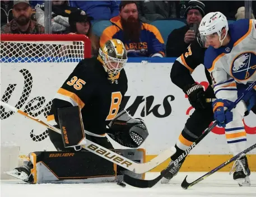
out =
<svg viewBox="0 0 256 197"><path fill-rule="evenodd" d="M129 109L131 115L146 121L150 135L141 148L146 148L147 160L162 150L174 146L189 114L193 112L184 93L170 80L172 64L145 61L143 63L128 63L125 66L128 77L125 108ZM1 63L1 98L6 94L8 86L16 85L8 104L13 106L17 104L24 90L25 81L25 77L20 71L26 69L32 76L32 88L21 110L25 110L26 105L31 100L34 100L32 104L35 105L36 100L45 99L44 105L46 105L75 66L76 63ZM193 72L193 77L204 87L208 86L203 66ZM43 109L44 105L36 111ZM5 111L8 112L8 109ZM54 150L54 146L47 135L43 140L32 139L32 137L35 139L35 136L39 137L41 134L45 134L46 129L43 126L18 114L12 114L6 119L2 118L1 144L12 143L20 146L22 155L44 149L47 151ZM38 118L46 120L40 113ZM248 133L248 146L256 141L255 120L255 114L246 116L244 120L246 133ZM115 148L122 148L116 143L114 145ZM256 161L255 153L256 150L250 153L249 160L254 159ZM213 133L210 133L191 154L186 162L189 164L185 163L183 166L185 171L198 171L197 168L193 168L197 162L204 163L199 168L199 170L204 171L227 160L230 152L226 144L224 129L215 128ZM165 165L167 163L154 170L159 171ZM256 170L256 163L254 162L252 165L254 165L252 168Z"/></svg>

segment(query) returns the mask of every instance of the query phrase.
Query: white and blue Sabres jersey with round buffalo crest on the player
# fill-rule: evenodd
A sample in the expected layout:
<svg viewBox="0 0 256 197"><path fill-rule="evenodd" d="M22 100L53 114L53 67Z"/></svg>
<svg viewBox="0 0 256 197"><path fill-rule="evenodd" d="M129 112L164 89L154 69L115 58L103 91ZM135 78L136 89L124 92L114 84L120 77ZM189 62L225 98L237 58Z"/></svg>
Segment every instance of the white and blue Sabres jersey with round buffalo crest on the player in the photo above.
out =
<svg viewBox="0 0 256 197"><path fill-rule="evenodd" d="M241 19L229 25L230 42L204 56L218 99L235 101L236 83L252 83L256 79L256 20ZM254 87L256 90L256 87Z"/></svg>

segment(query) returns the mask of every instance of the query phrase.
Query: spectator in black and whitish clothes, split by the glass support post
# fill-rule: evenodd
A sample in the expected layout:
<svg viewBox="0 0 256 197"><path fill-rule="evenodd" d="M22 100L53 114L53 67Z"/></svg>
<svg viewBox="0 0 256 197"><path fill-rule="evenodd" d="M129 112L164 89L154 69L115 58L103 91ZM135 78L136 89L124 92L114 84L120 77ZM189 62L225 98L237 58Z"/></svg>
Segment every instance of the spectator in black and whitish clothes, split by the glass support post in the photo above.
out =
<svg viewBox="0 0 256 197"><path fill-rule="evenodd" d="M44 5L44 4L43 4ZM64 34L69 26L68 17L63 17L54 13L54 8L66 10L68 6L67 1L52 1L52 24L51 29L53 34ZM38 7L35 11L36 22L44 26L44 6Z"/></svg>

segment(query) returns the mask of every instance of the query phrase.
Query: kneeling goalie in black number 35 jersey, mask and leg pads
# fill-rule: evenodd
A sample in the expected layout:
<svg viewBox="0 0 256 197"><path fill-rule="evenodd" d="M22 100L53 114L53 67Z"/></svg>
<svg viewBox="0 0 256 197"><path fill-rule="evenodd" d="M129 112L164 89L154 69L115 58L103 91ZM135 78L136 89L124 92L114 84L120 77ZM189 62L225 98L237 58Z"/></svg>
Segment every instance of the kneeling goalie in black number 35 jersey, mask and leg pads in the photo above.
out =
<svg viewBox="0 0 256 197"><path fill-rule="evenodd" d="M107 135L129 148L115 150L118 154L144 162L145 150L136 148L148 136L146 125L120 109L128 88L123 69L126 62L122 41L111 39L99 50L97 58L78 63L55 95L47 118L62 133L48 130L57 151L32 152L29 161L7 174L31 184L122 179L125 169L104 158L110 155L100 157L83 148L87 139L114 150ZM142 178L143 174L134 176Z"/></svg>

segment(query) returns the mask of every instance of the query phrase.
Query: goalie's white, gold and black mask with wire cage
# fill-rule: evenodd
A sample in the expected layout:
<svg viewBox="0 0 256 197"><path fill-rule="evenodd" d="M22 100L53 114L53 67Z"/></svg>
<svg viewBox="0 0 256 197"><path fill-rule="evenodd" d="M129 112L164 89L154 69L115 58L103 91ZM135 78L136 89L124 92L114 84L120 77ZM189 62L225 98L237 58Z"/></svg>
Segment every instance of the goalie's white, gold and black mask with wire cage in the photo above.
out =
<svg viewBox="0 0 256 197"><path fill-rule="evenodd" d="M109 79L114 83L127 62L127 50L122 41L111 39L106 41L103 48L99 49L98 59L109 73Z"/></svg>

